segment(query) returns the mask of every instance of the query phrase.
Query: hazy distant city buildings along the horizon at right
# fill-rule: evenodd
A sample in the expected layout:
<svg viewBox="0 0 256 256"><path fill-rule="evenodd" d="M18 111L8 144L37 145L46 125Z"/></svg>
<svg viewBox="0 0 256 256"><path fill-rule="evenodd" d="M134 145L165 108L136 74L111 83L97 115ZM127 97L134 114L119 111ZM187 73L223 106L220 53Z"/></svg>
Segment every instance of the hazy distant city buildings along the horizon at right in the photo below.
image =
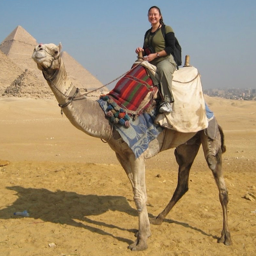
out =
<svg viewBox="0 0 256 256"><path fill-rule="evenodd" d="M256 89L205 89L204 94L228 100L256 100Z"/></svg>

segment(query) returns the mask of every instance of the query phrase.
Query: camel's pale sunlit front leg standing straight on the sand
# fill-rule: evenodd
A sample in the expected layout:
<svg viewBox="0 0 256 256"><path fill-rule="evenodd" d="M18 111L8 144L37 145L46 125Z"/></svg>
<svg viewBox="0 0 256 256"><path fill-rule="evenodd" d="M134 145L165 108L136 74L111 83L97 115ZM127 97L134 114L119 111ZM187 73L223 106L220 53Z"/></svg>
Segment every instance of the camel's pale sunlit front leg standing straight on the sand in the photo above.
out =
<svg viewBox="0 0 256 256"><path fill-rule="evenodd" d="M151 236L148 211L146 207L147 192L145 182L145 158L135 159L134 154L129 155L133 177L133 199L139 213L139 231L136 241L128 248L132 251L142 251L148 248L147 239Z"/></svg>

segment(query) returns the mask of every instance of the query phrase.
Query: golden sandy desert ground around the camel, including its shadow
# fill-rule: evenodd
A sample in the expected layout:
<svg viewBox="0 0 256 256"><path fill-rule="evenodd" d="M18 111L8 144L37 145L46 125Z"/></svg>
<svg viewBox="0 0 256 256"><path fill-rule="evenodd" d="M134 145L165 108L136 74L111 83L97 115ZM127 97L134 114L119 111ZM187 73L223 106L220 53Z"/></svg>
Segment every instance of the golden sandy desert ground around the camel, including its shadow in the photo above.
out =
<svg viewBox="0 0 256 256"><path fill-rule="evenodd" d="M11 164L0 167L0 256L256 255L256 201L243 198L247 191L256 195L256 101L206 100L226 136L233 245L217 243L222 210L202 148L187 194L161 226L151 225L148 250L131 252L137 211L114 152L61 117L56 100L2 98L0 159ZM173 151L147 161L150 216L164 209L176 188ZM13 215L23 210L30 216Z"/></svg>

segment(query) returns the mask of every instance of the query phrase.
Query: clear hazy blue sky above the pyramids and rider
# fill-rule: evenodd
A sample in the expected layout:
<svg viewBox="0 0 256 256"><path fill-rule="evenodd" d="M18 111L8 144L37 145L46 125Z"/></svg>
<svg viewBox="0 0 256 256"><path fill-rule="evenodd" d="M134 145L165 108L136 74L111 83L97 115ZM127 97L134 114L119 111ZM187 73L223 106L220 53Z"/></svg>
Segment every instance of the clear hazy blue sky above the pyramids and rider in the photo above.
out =
<svg viewBox="0 0 256 256"><path fill-rule="evenodd" d="M0 43L20 25L38 43L61 42L63 50L107 84L137 59L135 49L150 28L152 5L173 28L183 63L190 55L204 89L256 88L255 0L2 0Z"/></svg>

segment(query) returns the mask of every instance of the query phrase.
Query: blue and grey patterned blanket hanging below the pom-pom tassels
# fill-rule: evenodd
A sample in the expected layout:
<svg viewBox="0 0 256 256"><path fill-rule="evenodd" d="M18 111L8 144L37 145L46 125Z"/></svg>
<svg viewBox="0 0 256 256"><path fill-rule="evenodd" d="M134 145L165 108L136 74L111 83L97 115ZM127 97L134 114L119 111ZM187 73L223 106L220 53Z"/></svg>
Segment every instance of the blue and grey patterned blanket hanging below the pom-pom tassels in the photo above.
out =
<svg viewBox="0 0 256 256"><path fill-rule="evenodd" d="M108 103L104 100L97 100L102 110L107 113ZM115 129L119 132L122 139L132 149L136 158L138 158L147 148L150 141L164 130L160 125L155 124L154 120L157 113L152 110L149 114L141 114L136 120L131 119L131 126L126 128L123 125L115 124Z"/></svg>

